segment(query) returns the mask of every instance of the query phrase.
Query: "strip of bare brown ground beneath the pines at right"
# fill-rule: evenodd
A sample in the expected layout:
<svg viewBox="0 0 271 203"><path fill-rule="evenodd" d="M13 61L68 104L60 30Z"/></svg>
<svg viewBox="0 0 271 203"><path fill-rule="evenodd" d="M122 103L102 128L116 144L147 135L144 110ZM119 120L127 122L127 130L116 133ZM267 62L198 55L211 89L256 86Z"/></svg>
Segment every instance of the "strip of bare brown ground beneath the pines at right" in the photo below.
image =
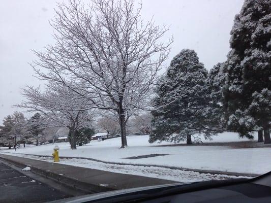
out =
<svg viewBox="0 0 271 203"><path fill-rule="evenodd" d="M271 144L263 144L257 141L244 141L244 142L228 142L228 143L194 143L192 145L187 144L170 144L170 145L159 145L152 147L192 147L192 146L225 146L231 148L265 148L271 147Z"/></svg>

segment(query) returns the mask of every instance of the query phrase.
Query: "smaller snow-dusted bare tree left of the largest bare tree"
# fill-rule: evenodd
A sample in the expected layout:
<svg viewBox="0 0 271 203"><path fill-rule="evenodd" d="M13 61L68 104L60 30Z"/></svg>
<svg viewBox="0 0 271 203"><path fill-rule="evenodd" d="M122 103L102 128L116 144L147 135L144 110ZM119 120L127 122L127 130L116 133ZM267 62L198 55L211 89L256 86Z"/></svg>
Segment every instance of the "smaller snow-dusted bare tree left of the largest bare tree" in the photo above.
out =
<svg viewBox="0 0 271 203"><path fill-rule="evenodd" d="M48 84L44 93L40 88L27 87L22 95L26 101L16 107L41 113L43 119L39 122L44 122L48 127L68 127L72 149L76 149L76 130L92 126L92 115L89 113L92 103L78 97L77 93L61 83Z"/></svg>

